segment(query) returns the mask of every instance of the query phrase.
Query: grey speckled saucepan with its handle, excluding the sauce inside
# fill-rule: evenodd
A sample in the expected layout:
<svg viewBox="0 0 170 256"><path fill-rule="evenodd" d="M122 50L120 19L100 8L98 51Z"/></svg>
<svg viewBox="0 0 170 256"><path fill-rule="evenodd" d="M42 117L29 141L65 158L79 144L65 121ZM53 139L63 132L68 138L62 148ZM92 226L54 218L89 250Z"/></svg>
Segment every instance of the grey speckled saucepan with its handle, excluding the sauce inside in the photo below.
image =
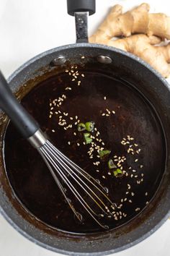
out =
<svg viewBox="0 0 170 256"><path fill-rule="evenodd" d="M159 148L160 154L164 154L164 165L160 170L155 167L152 175L148 170L148 177L154 178L150 186L154 196L143 211L124 225L94 234L67 234L54 230L31 216L14 195L4 164L3 138L6 116L1 111L0 211L14 229L46 249L66 255L108 255L146 239L169 217L170 88L161 74L133 54L117 48L88 43L87 18L88 14L95 12L94 0L68 0L67 2L68 14L75 16L76 19L76 43L53 48L27 61L9 77L10 88L21 99L38 82L57 74L69 64L77 64L84 69L93 67L97 72L107 72L125 80L143 95L145 101L156 113L162 129L162 140L164 140L164 148ZM136 108L138 109L138 105ZM149 140L146 144L148 142ZM154 150L156 148L153 148ZM149 153L148 151L148 155ZM154 152L152 153L154 155ZM143 200L142 196L141 200Z"/></svg>

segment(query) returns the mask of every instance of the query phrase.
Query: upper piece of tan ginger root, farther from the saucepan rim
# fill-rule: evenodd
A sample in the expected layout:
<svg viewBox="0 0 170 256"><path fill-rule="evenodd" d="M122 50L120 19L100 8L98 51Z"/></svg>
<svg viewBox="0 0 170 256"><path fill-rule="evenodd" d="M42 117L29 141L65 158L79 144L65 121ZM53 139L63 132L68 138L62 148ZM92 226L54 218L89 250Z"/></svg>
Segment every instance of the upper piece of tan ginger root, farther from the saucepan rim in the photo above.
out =
<svg viewBox="0 0 170 256"><path fill-rule="evenodd" d="M150 6L143 3L122 14L122 6L116 4L90 40L97 42L100 38L128 37L136 33L170 39L170 17L163 13L149 14L149 9Z"/></svg>

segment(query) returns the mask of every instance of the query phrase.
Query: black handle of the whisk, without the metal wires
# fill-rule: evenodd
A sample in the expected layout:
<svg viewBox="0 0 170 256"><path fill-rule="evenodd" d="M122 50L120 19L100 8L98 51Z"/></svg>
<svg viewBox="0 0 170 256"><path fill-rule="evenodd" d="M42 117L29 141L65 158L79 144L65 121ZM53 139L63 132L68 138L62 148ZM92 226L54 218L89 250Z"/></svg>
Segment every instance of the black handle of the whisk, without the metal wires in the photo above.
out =
<svg viewBox="0 0 170 256"><path fill-rule="evenodd" d="M28 114L14 97L9 85L0 71L0 108L9 116L24 138L31 137L39 129L35 119Z"/></svg>

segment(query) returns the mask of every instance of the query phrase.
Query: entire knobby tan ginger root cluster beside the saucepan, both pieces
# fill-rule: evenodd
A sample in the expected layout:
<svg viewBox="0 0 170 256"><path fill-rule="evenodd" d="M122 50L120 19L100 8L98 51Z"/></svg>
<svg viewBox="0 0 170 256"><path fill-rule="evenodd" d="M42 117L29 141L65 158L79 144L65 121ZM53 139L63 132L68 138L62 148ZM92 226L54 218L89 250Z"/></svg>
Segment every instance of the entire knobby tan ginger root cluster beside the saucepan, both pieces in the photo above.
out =
<svg viewBox="0 0 170 256"><path fill-rule="evenodd" d="M149 9L148 4L140 4L139 7L122 14L122 7L119 4L115 5L89 41L135 54L151 64L164 77L168 77L170 74L170 44L154 45L161 43L161 38L170 39L170 17L161 13L149 14ZM134 33L139 34L132 35ZM126 38L112 40L115 36Z"/></svg>

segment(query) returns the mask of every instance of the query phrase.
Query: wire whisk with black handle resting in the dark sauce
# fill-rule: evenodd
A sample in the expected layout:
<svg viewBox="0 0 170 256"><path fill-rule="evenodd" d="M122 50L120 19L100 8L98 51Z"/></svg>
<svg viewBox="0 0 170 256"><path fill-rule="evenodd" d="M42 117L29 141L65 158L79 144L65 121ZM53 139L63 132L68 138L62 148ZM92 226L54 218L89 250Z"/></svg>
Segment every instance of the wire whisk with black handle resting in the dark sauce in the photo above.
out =
<svg viewBox="0 0 170 256"><path fill-rule="evenodd" d="M102 223L102 218L104 216L112 217L115 203L109 200L107 191L97 180L55 148L41 131L37 121L27 113L17 101L17 98L14 97L1 72L0 107L19 129L22 136L40 153L76 218L82 221L81 214L76 211L66 195L65 186L71 190L73 196L76 197L76 200L79 200L91 218L103 229L108 229L108 226Z"/></svg>

